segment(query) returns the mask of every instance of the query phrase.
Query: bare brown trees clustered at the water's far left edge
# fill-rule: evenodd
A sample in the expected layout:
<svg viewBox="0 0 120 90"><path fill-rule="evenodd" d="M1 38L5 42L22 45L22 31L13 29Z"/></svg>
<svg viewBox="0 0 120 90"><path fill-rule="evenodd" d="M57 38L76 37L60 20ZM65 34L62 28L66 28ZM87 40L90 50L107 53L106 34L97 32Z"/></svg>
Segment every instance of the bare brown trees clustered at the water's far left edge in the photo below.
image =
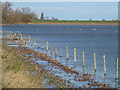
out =
<svg viewBox="0 0 120 90"><path fill-rule="evenodd" d="M2 23L3 24L18 24L28 23L32 20L37 19L34 12L30 11L30 8L12 8L12 3L4 2L2 4Z"/></svg>

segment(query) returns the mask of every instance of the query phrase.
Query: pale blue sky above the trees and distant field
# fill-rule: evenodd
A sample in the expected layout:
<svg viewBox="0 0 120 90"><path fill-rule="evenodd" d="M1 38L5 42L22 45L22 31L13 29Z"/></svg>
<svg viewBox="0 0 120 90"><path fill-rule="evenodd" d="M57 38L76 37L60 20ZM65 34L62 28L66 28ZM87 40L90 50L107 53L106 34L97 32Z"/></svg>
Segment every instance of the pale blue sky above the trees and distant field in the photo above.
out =
<svg viewBox="0 0 120 90"><path fill-rule="evenodd" d="M13 8L29 7L38 17L64 20L118 19L117 2L12 2Z"/></svg>

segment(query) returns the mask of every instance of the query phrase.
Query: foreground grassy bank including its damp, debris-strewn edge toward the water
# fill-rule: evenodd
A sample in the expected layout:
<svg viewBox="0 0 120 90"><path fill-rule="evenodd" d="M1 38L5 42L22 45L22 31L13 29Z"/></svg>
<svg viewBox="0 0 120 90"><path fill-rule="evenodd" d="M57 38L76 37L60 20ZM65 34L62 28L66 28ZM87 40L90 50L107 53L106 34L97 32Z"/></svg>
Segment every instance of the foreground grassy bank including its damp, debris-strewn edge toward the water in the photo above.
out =
<svg viewBox="0 0 120 90"><path fill-rule="evenodd" d="M43 66L30 61L23 52L21 54L20 48L16 49L7 44L3 44L2 48L3 88L67 87L62 79L51 75L49 71L43 69Z"/></svg>

